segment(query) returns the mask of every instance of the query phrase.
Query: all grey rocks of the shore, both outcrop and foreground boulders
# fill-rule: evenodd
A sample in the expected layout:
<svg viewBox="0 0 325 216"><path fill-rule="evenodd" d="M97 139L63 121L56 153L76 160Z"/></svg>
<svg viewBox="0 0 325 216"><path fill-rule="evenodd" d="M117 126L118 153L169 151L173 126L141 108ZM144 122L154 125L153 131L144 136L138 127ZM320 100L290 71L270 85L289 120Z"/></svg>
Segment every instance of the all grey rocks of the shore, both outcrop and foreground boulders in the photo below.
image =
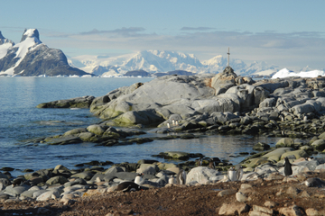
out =
<svg viewBox="0 0 325 216"><path fill-rule="evenodd" d="M325 159L312 157L325 152L324 86L325 77L291 77L255 82L249 77L237 76L231 67L226 67L217 76L162 76L148 83L118 88L101 97L84 96L39 104L38 108L89 108L102 121L87 128L34 139L32 143L68 145L91 142L110 147L140 144L154 139L194 139L214 134L283 137L275 148L270 148L266 143L256 143L254 149L259 153L246 157L240 163L244 167L240 189L236 187L236 190L218 192L218 196L231 196L241 204L236 202L232 208L225 203L225 206L219 206L218 214L245 214L249 211L249 215L261 215L262 212L265 215L276 215L276 212L315 215L308 213L304 206L297 207L302 214L290 214L286 211L298 212L296 207L280 210L280 207L271 205L249 205L247 203L252 201L255 193L245 184L255 184L256 181L305 184L312 176L318 176L320 186L325 185L321 180L325 172ZM144 131L144 128L153 129ZM147 133L156 133L157 136L146 137ZM304 141L296 142L295 138ZM137 173L144 174L145 181L141 187L149 190L171 189L173 186L225 185L229 182L237 185L228 178L228 169L233 166L228 161L204 157L200 153L171 151L161 152L154 157L183 160L184 163L176 165L145 159L138 163L121 164L92 161L89 166L80 164L77 165L79 168L73 170L61 165L30 170L18 176L18 179L10 175L11 167L3 167L5 172L0 173L0 200L3 206L12 202L44 201L72 206L92 194L120 193L116 192L118 185L125 181L133 182ZM284 157L288 157L293 165L289 177L284 177ZM198 160L200 166L190 158L201 158ZM210 161L215 166L209 166ZM112 166L108 169L103 167L110 164ZM187 173L186 184L170 184L169 179L178 175L180 170ZM23 184L13 186L18 180ZM310 186L305 184L305 187L307 185ZM289 193L293 194L298 189L291 190ZM280 195L285 192L279 189L276 193ZM303 195L325 197L323 192ZM240 209L238 206L241 206ZM287 205L281 208L291 207ZM314 208L314 212L318 211ZM234 211L228 212L228 209Z"/></svg>

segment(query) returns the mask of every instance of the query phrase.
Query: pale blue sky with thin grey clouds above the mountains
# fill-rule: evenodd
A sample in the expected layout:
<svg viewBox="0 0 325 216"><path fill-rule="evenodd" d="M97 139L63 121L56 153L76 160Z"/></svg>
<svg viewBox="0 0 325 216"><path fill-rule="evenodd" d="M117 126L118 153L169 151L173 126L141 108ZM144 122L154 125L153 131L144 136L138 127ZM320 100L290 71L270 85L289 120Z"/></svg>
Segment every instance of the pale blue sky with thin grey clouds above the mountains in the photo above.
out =
<svg viewBox="0 0 325 216"><path fill-rule="evenodd" d="M0 31L18 43L25 28L67 56L114 57L146 49L208 60L325 68L324 0L3 1Z"/></svg>

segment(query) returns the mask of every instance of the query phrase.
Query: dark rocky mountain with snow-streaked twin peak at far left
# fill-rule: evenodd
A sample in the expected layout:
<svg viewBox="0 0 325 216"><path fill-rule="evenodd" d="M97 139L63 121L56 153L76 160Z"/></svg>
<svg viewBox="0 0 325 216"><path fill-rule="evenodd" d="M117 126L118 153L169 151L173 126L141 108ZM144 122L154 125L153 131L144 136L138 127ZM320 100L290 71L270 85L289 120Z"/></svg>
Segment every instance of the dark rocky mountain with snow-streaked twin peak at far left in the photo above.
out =
<svg viewBox="0 0 325 216"><path fill-rule="evenodd" d="M0 34L0 75L59 76L88 75L70 67L60 49L51 49L40 40L37 29L23 32L22 40L14 44Z"/></svg>

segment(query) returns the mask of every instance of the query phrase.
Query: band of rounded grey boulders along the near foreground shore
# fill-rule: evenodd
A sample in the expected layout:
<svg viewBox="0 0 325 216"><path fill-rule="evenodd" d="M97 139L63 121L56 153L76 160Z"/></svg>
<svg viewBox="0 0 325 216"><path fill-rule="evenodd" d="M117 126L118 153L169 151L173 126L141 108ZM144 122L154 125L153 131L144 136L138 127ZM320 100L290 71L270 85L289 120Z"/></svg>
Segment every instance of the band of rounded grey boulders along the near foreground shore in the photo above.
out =
<svg viewBox="0 0 325 216"><path fill-rule="evenodd" d="M249 215L261 215L262 212L268 213L265 215L278 215L276 212L284 212L284 215L324 215L325 211L323 212L313 205L305 208L297 205L282 206L276 202L272 202L271 205L265 204L265 206L248 204L252 202L255 191L258 190L257 188L253 190L253 185L256 182L270 186L274 184L302 185L288 185L285 189L279 188L276 191L277 195L299 196L309 199L312 197L320 200L325 198L325 190L317 189L311 192L308 189L310 187L320 188L325 186L325 181L321 180L321 178L325 177L323 176L325 175L325 158L309 157L303 149L296 150L292 141L293 139L289 138L281 139L276 144L278 148L247 157L242 163L242 166L246 166L246 168L244 169L244 175L240 179L241 183L230 181L227 171L210 168L209 161L206 160L208 158L204 157L200 166L193 165L191 168L189 168L189 165L177 166L173 163L142 159L134 164L121 163L108 169L102 167L109 164L108 161L106 164L92 161L92 163L89 163L92 166L74 170L58 165L54 168L26 173L17 178L13 178L10 172L0 173L0 206L2 206L0 213L1 211L10 210L10 206L21 206L26 205L26 203L39 206L32 211L39 215L51 215L53 213L51 208L54 206L60 207L60 211L69 212L70 207L75 206L78 202L83 203L84 199L95 199L98 195L105 194L114 196L125 194L118 185L124 182L134 182L135 176L142 173L144 174L144 181L139 184L142 190L155 191L163 188L172 190L204 185L218 187L219 189L214 192L215 196L224 197L225 199L228 197L231 200L231 202L222 202L222 205L218 206L218 214L220 215L233 215L236 214L236 211L239 214L249 211ZM283 147L283 144L291 147ZM170 156L190 157L187 153L181 152L170 152ZM284 176L283 174L283 157L289 157L292 162L292 175L290 176ZM181 169L188 169L186 184L171 184L170 179L175 177ZM10 169L7 167L7 170ZM309 184L314 181L312 179L317 179L318 184ZM225 184L232 185L232 189L225 187ZM237 189L234 189L233 187L236 185ZM264 199L265 202L269 200L266 196ZM49 208L49 205L44 205L44 203L52 203L51 208ZM70 207L63 208L62 206ZM309 211L319 212L320 214L308 213ZM116 214L109 214L109 212L116 212ZM145 211L143 213L145 215ZM117 211L107 211L106 214L100 215L124 214Z"/></svg>

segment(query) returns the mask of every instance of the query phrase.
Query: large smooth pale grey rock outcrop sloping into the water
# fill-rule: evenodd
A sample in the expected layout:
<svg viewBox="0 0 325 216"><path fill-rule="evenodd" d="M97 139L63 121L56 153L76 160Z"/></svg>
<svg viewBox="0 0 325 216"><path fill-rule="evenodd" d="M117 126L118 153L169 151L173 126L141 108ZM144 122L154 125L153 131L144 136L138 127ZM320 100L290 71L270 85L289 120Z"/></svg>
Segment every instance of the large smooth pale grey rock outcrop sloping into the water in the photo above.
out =
<svg viewBox="0 0 325 216"><path fill-rule="evenodd" d="M172 114L193 114L194 100L214 95L208 76L161 76L132 91L116 90L96 99L90 112L117 125L160 123ZM107 102L107 103L105 103Z"/></svg>

